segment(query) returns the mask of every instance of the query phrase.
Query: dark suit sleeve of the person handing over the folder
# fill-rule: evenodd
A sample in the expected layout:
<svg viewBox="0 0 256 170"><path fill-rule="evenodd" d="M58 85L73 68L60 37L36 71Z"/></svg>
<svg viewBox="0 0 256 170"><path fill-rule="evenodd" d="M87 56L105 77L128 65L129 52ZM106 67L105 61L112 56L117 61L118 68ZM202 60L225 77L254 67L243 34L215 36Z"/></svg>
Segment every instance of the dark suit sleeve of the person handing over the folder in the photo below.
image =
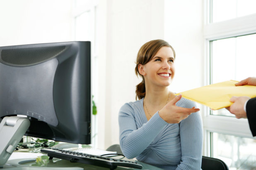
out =
<svg viewBox="0 0 256 170"><path fill-rule="evenodd" d="M256 97L249 99L246 104L246 114L253 136L256 136Z"/></svg>

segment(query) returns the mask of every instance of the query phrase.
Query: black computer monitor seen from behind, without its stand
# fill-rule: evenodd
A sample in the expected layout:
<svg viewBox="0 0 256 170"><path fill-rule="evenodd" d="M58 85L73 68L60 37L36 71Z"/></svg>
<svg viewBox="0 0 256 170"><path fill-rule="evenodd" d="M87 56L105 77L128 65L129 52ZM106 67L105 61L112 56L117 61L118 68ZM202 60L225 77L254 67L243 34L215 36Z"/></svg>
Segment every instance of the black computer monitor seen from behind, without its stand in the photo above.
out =
<svg viewBox="0 0 256 170"><path fill-rule="evenodd" d="M91 143L88 41L0 47L0 117L24 115L25 135Z"/></svg>

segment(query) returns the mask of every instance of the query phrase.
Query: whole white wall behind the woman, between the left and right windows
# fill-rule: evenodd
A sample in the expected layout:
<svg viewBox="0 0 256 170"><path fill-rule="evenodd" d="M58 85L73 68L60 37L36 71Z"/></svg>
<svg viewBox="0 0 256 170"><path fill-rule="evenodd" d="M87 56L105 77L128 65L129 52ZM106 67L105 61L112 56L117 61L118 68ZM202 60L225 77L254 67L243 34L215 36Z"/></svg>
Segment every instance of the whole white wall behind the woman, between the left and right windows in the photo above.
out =
<svg viewBox="0 0 256 170"><path fill-rule="evenodd" d="M135 76L135 60L144 43L164 39L176 50L176 76L171 91L181 92L203 84L203 2L102 0L100 5L103 2L106 49L104 58L99 59L99 90L103 92L99 94L103 99L98 108L99 148L106 149L119 143L120 107L135 101L135 86L141 81Z"/></svg>

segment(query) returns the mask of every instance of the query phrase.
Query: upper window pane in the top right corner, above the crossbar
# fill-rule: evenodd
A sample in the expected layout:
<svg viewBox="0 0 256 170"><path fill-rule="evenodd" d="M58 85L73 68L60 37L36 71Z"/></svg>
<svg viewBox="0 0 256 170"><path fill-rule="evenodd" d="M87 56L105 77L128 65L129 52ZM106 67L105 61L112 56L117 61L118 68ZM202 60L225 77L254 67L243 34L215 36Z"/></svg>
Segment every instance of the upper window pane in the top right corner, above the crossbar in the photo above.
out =
<svg viewBox="0 0 256 170"><path fill-rule="evenodd" d="M256 0L212 0L212 22L256 13Z"/></svg>

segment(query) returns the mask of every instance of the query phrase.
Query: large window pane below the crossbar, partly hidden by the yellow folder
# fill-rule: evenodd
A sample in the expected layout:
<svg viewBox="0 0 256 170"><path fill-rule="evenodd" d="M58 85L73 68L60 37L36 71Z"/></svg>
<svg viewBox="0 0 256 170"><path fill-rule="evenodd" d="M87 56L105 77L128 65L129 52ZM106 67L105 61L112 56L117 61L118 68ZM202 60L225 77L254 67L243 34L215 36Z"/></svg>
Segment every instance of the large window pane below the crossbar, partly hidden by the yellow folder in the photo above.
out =
<svg viewBox="0 0 256 170"><path fill-rule="evenodd" d="M255 77L255 42L256 34L212 41L211 83ZM234 116L226 109L212 111L212 114Z"/></svg>

